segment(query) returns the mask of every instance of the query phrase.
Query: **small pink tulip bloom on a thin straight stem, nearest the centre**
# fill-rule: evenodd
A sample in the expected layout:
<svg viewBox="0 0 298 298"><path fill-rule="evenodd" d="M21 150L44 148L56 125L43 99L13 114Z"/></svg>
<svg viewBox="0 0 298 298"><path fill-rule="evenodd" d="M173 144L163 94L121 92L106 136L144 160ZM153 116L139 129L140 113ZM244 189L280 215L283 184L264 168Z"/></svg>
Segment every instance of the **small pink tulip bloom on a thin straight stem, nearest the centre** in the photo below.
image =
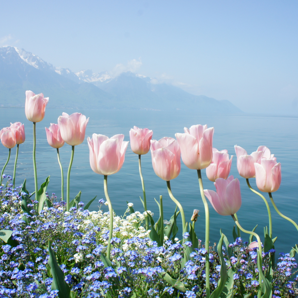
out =
<svg viewBox="0 0 298 298"><path fill-rule="evenodd" d="M131 140L131 150L139 155L147 154L150 149L150 140L153 131L148 128L138 128L134 126L129 132Z"/></svg>

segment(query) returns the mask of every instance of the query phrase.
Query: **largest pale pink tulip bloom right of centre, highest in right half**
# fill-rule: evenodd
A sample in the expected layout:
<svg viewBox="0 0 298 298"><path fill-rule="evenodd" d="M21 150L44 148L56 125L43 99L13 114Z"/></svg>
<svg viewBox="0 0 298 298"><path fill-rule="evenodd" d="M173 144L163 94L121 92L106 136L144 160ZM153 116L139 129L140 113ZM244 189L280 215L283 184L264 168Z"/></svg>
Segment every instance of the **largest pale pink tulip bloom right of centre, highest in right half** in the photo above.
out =
<svg viewBox="0 0 298 298"><path fill-rule="evenodd" d="M214 128L207 125L184 127L184 134L175 134L184 164L190 169L205 169L212 162L212 137Z"/></svg>

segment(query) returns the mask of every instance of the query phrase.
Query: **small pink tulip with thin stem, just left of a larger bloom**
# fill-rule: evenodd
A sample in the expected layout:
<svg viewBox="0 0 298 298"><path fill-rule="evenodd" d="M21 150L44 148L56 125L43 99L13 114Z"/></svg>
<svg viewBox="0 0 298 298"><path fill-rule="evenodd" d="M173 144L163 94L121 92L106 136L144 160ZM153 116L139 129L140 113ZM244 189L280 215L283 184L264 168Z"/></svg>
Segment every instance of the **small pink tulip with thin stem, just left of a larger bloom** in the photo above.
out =
<svg viewBox="0 0 298 298"><path fill-rule="evenodd" d="M60 128L58 124L51 123L49 128L46 129L46 139L51 147L57 149L58 163L61 170L61 198L64 201L64 176L63 176L63 168L60 162L59 148L64 145L64 141L61 137Z"/></svg>

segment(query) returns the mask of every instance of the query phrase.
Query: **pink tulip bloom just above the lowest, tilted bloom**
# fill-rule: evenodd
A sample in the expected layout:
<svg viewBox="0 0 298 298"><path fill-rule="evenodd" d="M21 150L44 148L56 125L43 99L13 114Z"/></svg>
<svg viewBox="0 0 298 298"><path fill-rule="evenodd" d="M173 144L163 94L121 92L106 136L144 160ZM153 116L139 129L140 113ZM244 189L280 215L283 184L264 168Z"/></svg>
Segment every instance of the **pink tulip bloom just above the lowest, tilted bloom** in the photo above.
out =
<svg viewBox="0 0 298 298"><path fill-rule="evenodd" d="M228 150L218 151L212 148L213 156L211 164L206 168L209 180L215 182L217 178L227 179L231 170L232 158L229 159Z"/></svg>

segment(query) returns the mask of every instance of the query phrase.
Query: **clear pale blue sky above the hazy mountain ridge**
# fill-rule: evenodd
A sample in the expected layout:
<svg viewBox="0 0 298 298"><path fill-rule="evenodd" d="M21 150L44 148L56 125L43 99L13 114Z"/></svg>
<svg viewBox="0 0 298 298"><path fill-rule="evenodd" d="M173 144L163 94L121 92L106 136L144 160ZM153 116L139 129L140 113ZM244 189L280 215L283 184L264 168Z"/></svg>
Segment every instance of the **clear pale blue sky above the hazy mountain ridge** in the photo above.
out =
<svg viewBox="0 0 298 298"><path fill-rule="evenodd" d="M0 7L0 46L24 48L54 66L130 69L243 111L298 113L298 1L28 0Z"/></svg>

